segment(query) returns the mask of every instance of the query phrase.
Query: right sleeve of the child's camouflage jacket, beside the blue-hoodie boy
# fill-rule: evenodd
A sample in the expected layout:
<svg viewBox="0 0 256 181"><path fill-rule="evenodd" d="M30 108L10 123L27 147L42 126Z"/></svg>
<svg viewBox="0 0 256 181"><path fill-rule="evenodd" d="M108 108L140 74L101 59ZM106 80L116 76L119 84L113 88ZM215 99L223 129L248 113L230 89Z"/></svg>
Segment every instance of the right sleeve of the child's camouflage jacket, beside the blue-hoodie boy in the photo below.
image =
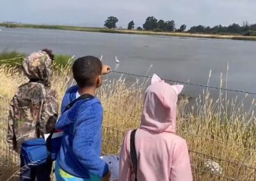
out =
<svg viewBox="0 0 256 181"><path fill-rule="evenodd" d="M44 134L54 131L58 118L58 99L56 91L49 90L44 99L42 117L40 122L41 130Z"/></svg>

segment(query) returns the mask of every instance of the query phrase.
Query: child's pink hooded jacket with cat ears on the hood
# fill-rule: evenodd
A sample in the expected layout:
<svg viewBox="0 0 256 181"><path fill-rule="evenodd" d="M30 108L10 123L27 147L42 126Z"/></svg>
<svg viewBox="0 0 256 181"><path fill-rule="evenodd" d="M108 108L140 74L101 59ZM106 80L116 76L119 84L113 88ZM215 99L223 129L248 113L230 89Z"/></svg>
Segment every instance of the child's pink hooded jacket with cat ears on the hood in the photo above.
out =
<svg viewBox="0 0 256 181"><path fill-rule="evenodd" d="M148 87L135 146L138 181L193 180L186 140L175 135L178 94L183 85L169 85L157 75ZM129 131L120 152L120 181L134 181Z"/></svg>

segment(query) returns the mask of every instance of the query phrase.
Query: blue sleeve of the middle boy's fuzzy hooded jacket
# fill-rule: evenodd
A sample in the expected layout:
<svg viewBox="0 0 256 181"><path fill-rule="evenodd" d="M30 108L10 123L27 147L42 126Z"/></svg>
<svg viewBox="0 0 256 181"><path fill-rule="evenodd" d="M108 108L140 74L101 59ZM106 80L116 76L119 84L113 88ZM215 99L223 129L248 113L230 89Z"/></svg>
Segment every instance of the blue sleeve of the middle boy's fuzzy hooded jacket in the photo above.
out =
<svg viewBox="0 0 256 181"><path fill-rule="evenodd" d="M99 116L99 111L98 106L91 105L86 108L86 119L77 122L72 149L77 160L86 170L95 176L104 177L108 173L108 164L100 158L92 146L95 139L101 139L102 116Z"/></svg>

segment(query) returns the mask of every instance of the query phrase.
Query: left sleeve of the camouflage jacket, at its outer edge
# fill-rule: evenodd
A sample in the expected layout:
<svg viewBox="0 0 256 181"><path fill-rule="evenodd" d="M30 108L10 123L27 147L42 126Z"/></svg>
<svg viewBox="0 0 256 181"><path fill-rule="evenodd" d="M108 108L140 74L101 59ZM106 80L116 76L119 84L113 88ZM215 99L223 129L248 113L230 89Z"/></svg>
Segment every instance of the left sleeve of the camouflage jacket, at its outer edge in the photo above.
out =
<svg viewBox="0 0 256 181"><path fill-rule="evenodd" d="M15 149L17 147L17 141L15 136L15 126L17 122L15 121L15 106L14 99L12 99L10 103L9 117L8 117L8 131L7 131L7 142L11 149Z"/></svg>

